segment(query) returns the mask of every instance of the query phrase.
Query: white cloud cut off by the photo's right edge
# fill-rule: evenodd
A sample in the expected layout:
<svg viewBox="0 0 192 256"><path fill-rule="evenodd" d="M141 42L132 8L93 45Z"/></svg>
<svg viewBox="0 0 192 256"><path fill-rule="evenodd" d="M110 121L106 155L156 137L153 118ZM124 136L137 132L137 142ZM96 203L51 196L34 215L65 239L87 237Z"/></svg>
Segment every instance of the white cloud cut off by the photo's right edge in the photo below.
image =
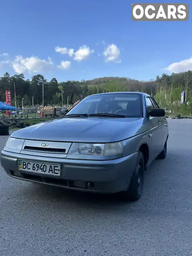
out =
<svg viewBox="0 0 192 256"><path fill-rule="evenodd" d="M180 62L174 62L164 69L174 73L180 73L180 72L192 70L192 57L186 60L181 60Z"/></svg>

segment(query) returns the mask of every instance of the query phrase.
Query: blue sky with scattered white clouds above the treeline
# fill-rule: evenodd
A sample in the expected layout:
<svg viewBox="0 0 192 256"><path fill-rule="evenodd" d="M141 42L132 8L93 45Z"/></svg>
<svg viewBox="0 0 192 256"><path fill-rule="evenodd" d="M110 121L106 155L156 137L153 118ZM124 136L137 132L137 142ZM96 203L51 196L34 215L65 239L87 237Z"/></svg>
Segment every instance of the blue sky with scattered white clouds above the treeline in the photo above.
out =
<svg viewBox="0 0 192 256"><path fill-rule="evenodd" d="M56 77L59 82L103 76L148 80L163 72L192 69L190 11L188 21L132 21L132 3L124 0L2 1L0 54L8 55L0 56L0 76L6 71L11 75L23 71L26 78L37 72L48 80ZM119 57L115 55L117 62L105 61L110 56L103 56L103 52L109 45L112 50L119 50ZM84 57L94 51L88 58L77 61L82 52L70 57L56 52L56 46L74 49L74 53L87 46ZM114 56L111 57L113 60ZM170 71L163 69L182 60L177 67L171 66Z"/></svg>

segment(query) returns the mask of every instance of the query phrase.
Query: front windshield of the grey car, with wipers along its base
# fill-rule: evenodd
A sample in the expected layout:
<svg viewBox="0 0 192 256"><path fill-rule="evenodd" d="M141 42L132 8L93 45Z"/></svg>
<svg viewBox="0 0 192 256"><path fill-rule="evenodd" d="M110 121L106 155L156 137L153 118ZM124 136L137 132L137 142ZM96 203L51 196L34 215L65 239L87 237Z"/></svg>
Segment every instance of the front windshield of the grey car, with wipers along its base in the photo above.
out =
<svg viewBox="0 0 192 256"><path fill-rule="evenodd" d="M96 94L86 97L66 115L111 113L126 117L142 117L139 93ZM111 115L112 116L112 115Z"/></svg>

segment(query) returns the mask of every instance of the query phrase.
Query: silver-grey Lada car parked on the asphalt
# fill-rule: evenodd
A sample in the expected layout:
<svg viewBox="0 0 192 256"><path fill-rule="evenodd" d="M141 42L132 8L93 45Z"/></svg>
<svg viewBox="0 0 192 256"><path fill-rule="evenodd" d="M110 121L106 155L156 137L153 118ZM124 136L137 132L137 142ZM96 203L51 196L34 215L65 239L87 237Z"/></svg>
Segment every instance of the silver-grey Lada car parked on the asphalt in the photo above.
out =
<svg viewBox="0 0 192 256"><path fill-rule="evenodd" d="M149 164L166 157L168 136L165 111L148 94L100 93L61 119L13 132L1 165L16 179L136 201Z"/></svg>

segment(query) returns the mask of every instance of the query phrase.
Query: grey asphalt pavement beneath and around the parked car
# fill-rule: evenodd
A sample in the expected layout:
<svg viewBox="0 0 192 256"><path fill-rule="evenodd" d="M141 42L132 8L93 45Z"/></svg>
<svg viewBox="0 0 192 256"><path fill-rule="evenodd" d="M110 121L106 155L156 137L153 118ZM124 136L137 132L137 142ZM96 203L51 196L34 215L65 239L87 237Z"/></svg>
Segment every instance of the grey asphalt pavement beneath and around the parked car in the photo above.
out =
<svg viewBox="0 0 192 256"><path fill-rule="evenodd" d="M0 166L0 255L192 255L192 119L168 124L167 157L135 203L15 180Z"/></svg>

